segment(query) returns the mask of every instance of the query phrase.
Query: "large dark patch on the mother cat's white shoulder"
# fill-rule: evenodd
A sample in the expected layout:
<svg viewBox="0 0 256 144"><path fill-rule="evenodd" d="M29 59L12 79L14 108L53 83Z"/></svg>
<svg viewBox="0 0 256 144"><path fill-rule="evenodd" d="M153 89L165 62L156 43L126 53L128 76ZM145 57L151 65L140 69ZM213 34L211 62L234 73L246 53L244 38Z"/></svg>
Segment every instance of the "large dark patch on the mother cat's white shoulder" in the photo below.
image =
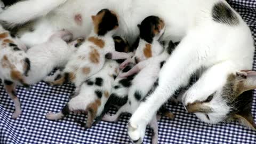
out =
<svg viewBox="0 0 256 144"><path fill-rule="evenodd" d="M216 22L230 26L235 26L239 23L236 13L223 2L219 2L213 6L212 18Z"/></svg>

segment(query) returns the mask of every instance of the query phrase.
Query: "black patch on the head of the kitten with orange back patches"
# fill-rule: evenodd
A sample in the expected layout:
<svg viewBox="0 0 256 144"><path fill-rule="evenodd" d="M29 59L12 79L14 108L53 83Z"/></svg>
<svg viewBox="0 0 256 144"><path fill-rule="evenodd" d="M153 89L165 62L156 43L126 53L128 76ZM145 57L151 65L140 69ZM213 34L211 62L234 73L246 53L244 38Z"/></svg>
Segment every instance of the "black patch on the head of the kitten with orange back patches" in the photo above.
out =
<svg viewBox="0 0 256 144"><path fill-rule="evenodd" d="M103 9L98 12L105 12L105 14L102 17L101 22L99 23L99 30L98 30L98 35L103 36L107 34L108 31L113 30L116 26L118 25L118 20L115 14L111 13L108 9Z"/></svg>

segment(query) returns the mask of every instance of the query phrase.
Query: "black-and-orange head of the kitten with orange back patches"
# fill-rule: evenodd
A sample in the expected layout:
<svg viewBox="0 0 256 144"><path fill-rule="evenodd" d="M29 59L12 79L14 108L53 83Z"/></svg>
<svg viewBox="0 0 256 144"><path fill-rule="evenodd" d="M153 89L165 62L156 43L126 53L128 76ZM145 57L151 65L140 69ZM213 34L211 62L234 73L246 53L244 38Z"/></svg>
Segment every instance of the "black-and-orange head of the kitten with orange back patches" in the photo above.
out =
<svg viewBox="0 0 256 144"><path fill-rule="evenodd" d="M99 36L104 36L110 32L114 34L119 27L117 14L108 9L102 9L96 15L92 15L92 21L94 33Z"/></svg>

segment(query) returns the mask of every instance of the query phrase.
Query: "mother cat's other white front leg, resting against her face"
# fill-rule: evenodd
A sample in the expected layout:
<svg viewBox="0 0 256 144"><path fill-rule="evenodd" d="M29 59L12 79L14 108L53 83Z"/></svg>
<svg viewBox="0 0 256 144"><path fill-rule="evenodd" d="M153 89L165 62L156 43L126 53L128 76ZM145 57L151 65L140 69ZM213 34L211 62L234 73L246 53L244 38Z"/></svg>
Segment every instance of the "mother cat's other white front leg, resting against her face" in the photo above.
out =
<svg viewBox="0 0 256 144"><path fill-rule="evenodd" d="M210 95L223 87L227 77L233 71L233 63L225 61L208 68L198 81L183 95L182 102L185 106L195 101L206 101Z"/></svg>

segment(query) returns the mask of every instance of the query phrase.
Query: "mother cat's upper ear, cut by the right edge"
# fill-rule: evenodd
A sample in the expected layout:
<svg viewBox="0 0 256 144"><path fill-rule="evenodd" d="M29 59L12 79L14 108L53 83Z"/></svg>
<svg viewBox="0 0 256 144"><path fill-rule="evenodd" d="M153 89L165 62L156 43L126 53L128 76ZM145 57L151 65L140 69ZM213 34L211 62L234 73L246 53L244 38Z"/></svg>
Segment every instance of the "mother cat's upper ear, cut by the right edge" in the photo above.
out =
<svg viewBox="0 0 256 144"><path fill-rule="evenodd" d="M256 89L256 71L241 70L236 76L243 78L243 92Z"/></svg>

